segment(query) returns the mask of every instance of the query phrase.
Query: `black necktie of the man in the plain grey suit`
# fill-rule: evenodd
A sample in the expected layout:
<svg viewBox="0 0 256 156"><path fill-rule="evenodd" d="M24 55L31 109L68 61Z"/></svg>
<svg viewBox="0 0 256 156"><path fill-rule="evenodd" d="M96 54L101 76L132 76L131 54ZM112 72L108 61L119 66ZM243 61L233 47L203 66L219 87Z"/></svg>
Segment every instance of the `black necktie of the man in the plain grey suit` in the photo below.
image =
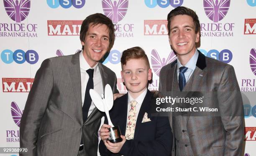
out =
<svg viewBox="0 0 256 156"><path fill-rule="evenodd" d="M87 85L86 85L85 96L84 96L84 105L83 105L83 109L82 109L83 110L83 120L84 120L84 122L87 119L89 108L90 108L91 103L92 103L92 98L90 96L89 91L90 91L90 89L93 89L93 72L94 72L94 70L93 69L88 69L88 70L86 70L86 72L89 75L89 80L88 80Z"/></svg>

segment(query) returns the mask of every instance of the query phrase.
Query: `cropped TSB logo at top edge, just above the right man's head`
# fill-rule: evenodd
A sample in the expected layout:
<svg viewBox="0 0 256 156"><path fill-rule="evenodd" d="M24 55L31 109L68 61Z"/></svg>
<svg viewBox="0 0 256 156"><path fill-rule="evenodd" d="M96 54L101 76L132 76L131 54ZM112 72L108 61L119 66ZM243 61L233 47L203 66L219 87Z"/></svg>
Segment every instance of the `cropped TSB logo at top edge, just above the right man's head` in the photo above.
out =
<svg viewBox="0 0 256 156"><path fill-rule="evenodd" d="M166 8L169 5L177 8L182 5L183 0L144 0L144 2L148 8L155 8L156 5L159 5L161 8Z"/></svg>

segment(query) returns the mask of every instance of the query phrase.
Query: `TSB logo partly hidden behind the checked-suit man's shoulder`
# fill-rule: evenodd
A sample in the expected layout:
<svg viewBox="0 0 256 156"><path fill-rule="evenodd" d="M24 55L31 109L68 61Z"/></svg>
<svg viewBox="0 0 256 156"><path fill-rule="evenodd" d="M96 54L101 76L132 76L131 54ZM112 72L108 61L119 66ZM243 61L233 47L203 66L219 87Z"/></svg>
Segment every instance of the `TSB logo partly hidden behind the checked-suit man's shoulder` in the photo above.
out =
<svg viewBox="0 0 256 156"><path fill-rule="evenodd" d="M201 53L209 58L213 58L215 60L220 60L224 63L229 63L232 58L232 52L228 49L221 50L220 52L216 49L209 50L208 52L204 49L199 49Z"/></svg>

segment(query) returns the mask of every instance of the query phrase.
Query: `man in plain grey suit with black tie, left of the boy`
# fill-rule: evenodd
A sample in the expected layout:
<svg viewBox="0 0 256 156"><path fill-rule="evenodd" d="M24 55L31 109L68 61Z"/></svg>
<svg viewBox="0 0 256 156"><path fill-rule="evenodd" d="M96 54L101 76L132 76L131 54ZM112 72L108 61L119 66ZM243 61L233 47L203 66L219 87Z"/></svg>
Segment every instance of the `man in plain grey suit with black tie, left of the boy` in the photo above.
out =
<svg viewBox="0 0 256 156"><path fill-rule="evenodd" d="M103 93L116 75L99 60L115 41L114 25L105 15L88 16L80 31L82 52L49 58L38 69L20 122L22 156L97 156L102 112L89 90Z"/></svg>

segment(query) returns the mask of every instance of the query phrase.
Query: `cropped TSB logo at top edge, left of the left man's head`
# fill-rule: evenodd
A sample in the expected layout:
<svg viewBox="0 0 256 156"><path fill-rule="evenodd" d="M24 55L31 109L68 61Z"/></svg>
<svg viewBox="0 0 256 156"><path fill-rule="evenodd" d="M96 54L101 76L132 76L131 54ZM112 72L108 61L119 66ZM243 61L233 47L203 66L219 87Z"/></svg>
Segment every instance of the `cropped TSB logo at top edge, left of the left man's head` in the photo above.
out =
<svg viewBox="0 0 256 156"><path fill-rule="evenodd" d="M72 5L74 8L82 8L85 4L85 0L46 0L47 4L51 8L58 8L61 5L62 8L70 8Z"/></svg>

